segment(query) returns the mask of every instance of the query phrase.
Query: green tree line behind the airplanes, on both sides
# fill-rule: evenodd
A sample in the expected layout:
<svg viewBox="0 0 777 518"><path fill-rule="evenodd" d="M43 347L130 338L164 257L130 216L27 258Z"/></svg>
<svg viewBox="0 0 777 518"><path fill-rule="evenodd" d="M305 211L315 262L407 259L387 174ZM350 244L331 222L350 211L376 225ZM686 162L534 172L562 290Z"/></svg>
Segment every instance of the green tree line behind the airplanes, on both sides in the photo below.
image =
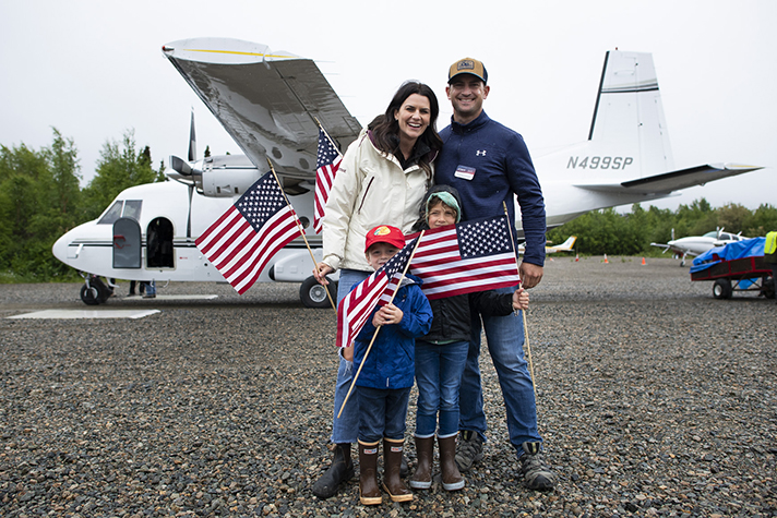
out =
<svg viewBox="0 0 777 518"><path fill-rule="evenodd" d="M52 134L51 145L37 150L24 144L0 145L0 282L76 280L77 274L51 254L55 241L96 219L124 189L166 180L164 161L155 169L150 147L139 149L134 131L128 130L121 142L103 145L94 178L81 186L75 143L57 129ZM661 249L650 242L666 243L672 229L681 238L717 228L765 236L777 229L777 208L713 208L704 198L677 210L634 204L627 214L613 208L587 213L549 230L548 240L562 243L577 236L575 250L581 254L655 256Z"/></svg>

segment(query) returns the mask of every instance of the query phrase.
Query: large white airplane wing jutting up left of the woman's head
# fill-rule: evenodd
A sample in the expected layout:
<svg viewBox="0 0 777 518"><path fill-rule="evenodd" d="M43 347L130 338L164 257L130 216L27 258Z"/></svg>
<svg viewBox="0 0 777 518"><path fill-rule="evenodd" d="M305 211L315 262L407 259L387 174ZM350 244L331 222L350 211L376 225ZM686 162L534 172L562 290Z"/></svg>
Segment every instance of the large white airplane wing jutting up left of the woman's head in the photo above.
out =
<svg viewBox="0 0 777 518"><path fill-rule="evenodd" d="M230 38L193 38L162 48L225 130L260 170L312 179L318 119L344 153L361 124L313 60Z"/></svg>

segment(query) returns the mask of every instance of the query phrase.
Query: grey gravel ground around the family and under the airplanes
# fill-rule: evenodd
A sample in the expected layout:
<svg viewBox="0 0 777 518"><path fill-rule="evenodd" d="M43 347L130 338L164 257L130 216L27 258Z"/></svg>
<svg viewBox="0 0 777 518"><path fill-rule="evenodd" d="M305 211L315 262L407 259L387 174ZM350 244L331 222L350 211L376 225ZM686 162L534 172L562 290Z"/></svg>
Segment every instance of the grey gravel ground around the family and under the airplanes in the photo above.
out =
<svg viewBox="0 0 777 518"><path fill-rule="evenodd" d="M531 290L555 491L521 485L485 357L491 430L467 486L374 507L357 478L311 493L330 458L335 321L303 309L299 285L176 284L158 292L219 297L115 297L100 308L160 313L61 321L5 317L85 309L80 286L0 285L0 515L777 516L777 306L715 300L678 264L555 258Z"/></svg>

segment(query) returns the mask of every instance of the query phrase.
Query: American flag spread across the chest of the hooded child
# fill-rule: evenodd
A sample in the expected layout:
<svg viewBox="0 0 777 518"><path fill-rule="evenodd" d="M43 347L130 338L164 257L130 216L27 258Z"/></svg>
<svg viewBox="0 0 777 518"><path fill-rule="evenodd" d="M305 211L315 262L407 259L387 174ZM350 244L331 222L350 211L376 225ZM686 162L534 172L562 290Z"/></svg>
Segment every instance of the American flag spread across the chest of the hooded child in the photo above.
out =
<svg viewBox="0 0 777 518"><path fill-rule="evenodd" d="M410 262L429 300L516 286L518 266L506 216L427 230Z"/></svg>

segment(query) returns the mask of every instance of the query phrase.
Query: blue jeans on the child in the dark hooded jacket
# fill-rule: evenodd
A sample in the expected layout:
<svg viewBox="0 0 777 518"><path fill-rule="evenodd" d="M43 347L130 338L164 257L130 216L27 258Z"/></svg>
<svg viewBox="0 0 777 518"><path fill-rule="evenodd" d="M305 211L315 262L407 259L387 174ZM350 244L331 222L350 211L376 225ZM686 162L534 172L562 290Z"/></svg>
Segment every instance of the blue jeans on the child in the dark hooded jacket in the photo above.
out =
<svg viewBox="0 0 777 518"><path fill-rule="evenodd" d="M451 437L458 432L458 388L468 350L467 341L437 345L416 340L416 437L434 435L438 412L439 437Z"/></svg>

